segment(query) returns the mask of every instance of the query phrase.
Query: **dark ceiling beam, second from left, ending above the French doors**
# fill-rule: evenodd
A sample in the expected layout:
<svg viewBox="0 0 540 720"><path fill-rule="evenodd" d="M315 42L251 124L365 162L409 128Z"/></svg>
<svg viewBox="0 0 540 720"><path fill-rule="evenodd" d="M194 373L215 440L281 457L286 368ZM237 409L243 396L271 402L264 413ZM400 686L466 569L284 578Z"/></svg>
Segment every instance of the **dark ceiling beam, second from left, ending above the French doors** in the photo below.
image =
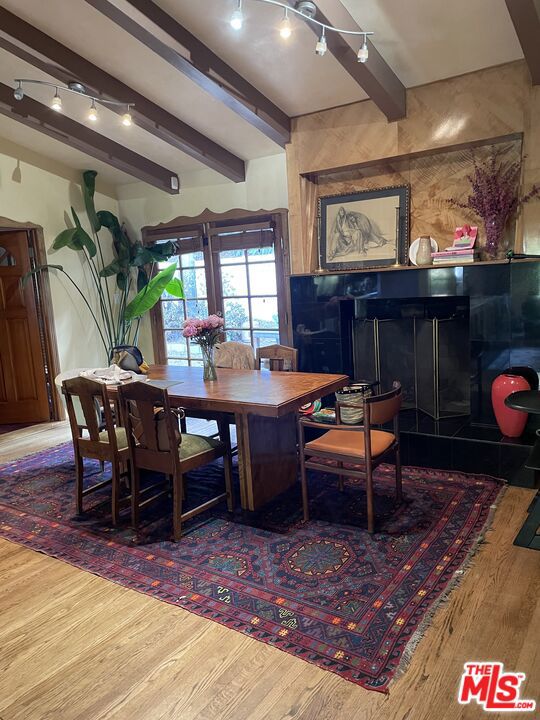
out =
<svg viewBox="0 0 540 720"><path fill-rule="evenodd" d="M3 7L0 47L60 82L78 80L96 97L134 103L132 115L139 127L230 180L244 182L241 158Z"/></svg>

